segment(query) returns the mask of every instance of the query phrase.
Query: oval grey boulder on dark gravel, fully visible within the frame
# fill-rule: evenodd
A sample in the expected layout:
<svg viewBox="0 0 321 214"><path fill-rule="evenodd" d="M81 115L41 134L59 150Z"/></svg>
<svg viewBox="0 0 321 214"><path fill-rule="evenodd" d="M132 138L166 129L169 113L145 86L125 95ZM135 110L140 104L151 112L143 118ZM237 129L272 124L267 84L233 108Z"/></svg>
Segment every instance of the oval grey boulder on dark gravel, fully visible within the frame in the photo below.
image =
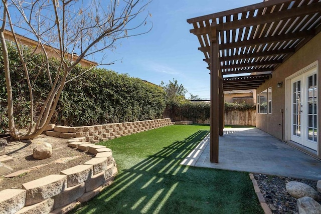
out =
<svg viewBox="0 0 321 214"><path fill-rule="evenodd" d="M318 192L305 183L290 181L286 183L285 187L286 191L295 198L300 198L304 196L309 196L313 199L318 198Z"/></svg>

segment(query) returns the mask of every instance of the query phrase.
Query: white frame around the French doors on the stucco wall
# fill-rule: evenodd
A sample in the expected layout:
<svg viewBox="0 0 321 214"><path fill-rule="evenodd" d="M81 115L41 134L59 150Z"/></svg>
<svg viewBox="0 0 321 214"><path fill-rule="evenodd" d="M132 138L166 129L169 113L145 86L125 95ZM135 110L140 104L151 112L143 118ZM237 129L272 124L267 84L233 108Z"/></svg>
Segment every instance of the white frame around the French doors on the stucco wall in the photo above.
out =
<svg viewBox="0 0 321 214"><path fill-rule="evenodd" d="M316 76L318 78L319 75L319 70L318 70L318 61L315 61L313 63L311 63L310 65L304 67L303 69L295 72L294 74L288 76L287 78L285 78L285 140L289 141L291 139L291 79L302 75L303 73L311 70L311 69L316 69ZM303 80L304 81L304 80ZM320 85L318 84L318 87L320 87ZM303 91L302 91L303 92ZM304 91L305 93L305 91ZM318 99L319 99L319 94L318 94ZM318 103L318 101L317 101ZM320 112L318 112L319 114ZM319 127L318 127L319 128ZM318 133L318 136L320 136L320 134ZM320 154L320 149L319 149L319 142L320 140L317 139L317 143L316 143L316 153L317 155Z"/></svg>

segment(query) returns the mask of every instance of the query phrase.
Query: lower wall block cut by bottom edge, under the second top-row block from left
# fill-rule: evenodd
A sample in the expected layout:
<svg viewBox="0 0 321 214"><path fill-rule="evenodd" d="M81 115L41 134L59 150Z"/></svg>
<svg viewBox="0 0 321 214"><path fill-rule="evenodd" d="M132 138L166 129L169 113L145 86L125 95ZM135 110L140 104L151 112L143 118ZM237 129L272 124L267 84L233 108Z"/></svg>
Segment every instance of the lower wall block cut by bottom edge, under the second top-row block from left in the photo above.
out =
<svg viewBox="0 0 321 214"><path fill-rule="evenodd" d="M25 206L16 214L49 213L54 209L54 199L49 198L31 206Z"/></svg>

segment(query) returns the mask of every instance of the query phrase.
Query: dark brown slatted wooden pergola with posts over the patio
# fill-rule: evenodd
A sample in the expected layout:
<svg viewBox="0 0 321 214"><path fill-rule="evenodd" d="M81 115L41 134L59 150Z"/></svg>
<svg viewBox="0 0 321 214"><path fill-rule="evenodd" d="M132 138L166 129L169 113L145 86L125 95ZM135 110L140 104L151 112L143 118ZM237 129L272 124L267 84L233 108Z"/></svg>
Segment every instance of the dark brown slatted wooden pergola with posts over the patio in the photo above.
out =
<svg viewBox="0 0 321 214"><path fill-rule="evenodd" d="M187 20L211 71L210 160L218 162L224 90L256 89L321 31L320 0L270 0ZM223 75L252 74L225 77Z"/></svg>

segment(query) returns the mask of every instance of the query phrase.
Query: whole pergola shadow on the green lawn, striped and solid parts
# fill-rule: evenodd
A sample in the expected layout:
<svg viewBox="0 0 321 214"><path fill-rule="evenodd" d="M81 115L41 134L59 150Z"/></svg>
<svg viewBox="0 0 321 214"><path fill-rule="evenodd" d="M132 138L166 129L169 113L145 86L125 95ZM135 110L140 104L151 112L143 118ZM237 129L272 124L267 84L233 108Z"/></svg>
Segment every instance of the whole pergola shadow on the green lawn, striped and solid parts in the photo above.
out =
<svg viewBox="0 0 321 214"><path fill-rule="evenodd" d="M208 133L198 131L124 170L77 212L262 213L247 173L180 165Z"/></svg>

